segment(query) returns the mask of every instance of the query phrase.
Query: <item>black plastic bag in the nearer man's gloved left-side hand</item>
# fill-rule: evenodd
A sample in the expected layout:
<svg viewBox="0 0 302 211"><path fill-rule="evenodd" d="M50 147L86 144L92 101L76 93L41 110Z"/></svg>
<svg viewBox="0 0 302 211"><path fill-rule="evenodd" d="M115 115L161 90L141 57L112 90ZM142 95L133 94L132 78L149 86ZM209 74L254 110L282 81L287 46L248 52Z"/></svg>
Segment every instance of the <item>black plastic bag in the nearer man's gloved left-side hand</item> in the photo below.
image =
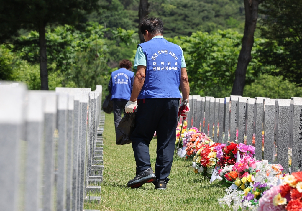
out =
<svg viewBox="0 0 302 211"><path fill-rule="evenodd" d="M117 145L124 145L124 144L131 143L130 136L134 130L135 114L136 112L126 113L124 110L124 117L120 120L120 123L118 124L116 129L115 142Z"/></svg>

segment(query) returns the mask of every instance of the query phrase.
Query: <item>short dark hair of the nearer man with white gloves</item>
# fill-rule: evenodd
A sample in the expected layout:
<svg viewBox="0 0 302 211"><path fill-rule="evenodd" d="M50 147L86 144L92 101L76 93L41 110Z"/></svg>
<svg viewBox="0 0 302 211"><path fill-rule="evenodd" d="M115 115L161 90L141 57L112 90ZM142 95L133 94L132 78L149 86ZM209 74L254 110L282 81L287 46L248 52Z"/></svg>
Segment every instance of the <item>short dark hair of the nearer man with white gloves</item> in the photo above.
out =
<svg viewBox="0 0 302 211"><path fill-rule="evenodd" d="M146 17L140 22L140 31L145 35L146 30L152 35L162 35L164 33L164 23L159 18Z"/></svg>

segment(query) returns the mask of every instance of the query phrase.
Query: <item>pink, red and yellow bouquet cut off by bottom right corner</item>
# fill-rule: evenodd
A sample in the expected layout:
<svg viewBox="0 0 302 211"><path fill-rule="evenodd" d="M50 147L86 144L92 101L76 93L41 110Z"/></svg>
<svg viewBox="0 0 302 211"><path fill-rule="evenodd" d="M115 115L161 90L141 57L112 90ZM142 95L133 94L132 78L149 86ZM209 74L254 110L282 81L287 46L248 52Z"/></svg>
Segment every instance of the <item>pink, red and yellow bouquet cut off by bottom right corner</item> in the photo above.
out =
<svg viewBox="0 0 302 211"><path fill-rule="evenodd" d="M286 175L283 181L262 195L258 211L302 211L302 172Z"/></svg>

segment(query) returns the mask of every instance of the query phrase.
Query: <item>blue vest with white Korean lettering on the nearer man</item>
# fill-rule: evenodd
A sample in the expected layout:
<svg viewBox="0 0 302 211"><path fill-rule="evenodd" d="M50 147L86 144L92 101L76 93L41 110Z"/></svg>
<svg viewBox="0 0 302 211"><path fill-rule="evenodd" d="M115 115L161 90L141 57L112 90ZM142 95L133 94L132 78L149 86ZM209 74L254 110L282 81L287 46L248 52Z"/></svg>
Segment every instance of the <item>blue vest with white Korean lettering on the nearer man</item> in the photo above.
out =
<svg viewBox="0 0 302 211"><path fill-rule="evenodd" d="M181 98L182 50L163 38L139 44L147 59L146 77L137 99Z"/></svg>

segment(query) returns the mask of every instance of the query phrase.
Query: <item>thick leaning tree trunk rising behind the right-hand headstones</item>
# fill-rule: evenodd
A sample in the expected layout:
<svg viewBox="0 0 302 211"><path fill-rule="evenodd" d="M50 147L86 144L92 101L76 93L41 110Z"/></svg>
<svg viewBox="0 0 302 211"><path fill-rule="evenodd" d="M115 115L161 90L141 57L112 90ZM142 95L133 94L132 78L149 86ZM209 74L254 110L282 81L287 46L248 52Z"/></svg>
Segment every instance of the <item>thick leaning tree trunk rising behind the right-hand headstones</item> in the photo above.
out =
<svg viewBox="0 0 302 211"><path fill-rule="evenodd" d="M246 21L242 39L242 48L238 58L232 95L243 95L243 89L245 86L246 78L246 68L252 59L251 51L254 44L254 32L258 18L258 5L258 0L244 0Z"/></svg>

